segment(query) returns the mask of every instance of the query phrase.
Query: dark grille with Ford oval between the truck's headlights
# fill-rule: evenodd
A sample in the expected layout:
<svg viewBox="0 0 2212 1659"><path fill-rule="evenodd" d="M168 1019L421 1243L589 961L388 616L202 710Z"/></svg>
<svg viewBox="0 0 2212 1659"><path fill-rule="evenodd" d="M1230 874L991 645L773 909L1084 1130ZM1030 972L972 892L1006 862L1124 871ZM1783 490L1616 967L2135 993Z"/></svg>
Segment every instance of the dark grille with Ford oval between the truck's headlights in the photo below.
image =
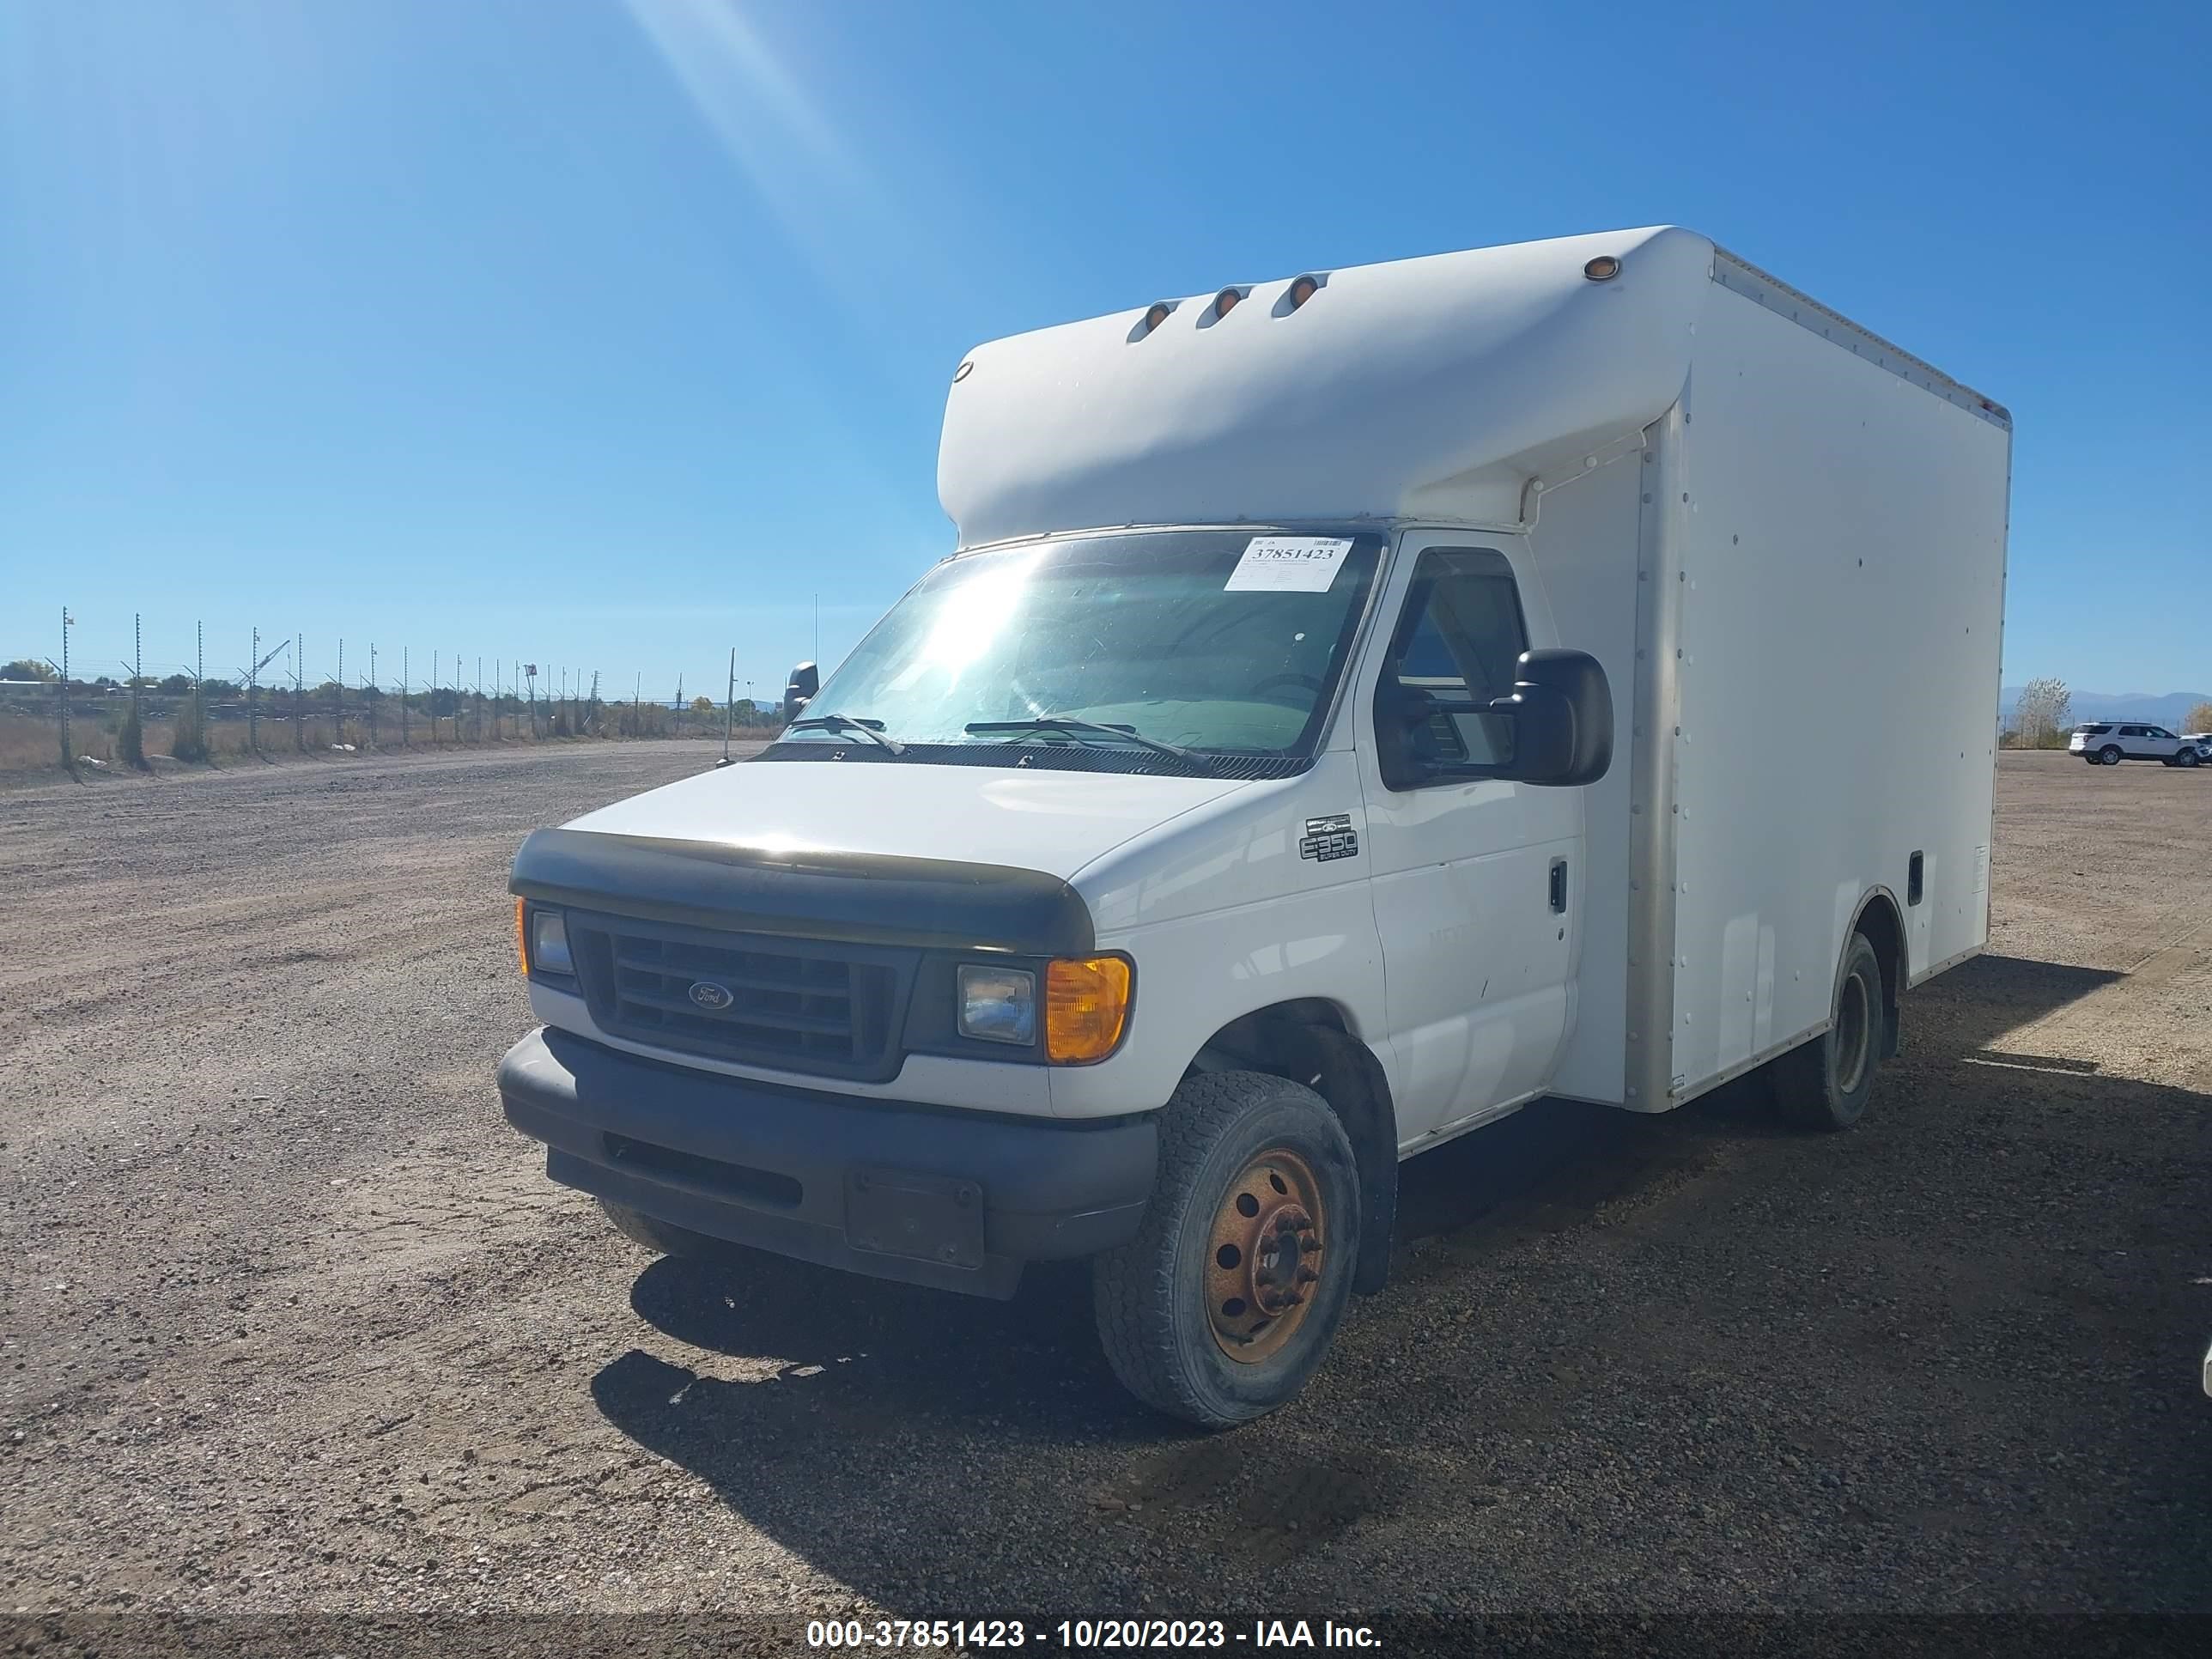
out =
<svg viewBox="0 0 2212 1659"><path fill-rule="evenodd" d="M825 1077L885 1079L911 953L568 916L584 998L613 1035Z"/></svg>

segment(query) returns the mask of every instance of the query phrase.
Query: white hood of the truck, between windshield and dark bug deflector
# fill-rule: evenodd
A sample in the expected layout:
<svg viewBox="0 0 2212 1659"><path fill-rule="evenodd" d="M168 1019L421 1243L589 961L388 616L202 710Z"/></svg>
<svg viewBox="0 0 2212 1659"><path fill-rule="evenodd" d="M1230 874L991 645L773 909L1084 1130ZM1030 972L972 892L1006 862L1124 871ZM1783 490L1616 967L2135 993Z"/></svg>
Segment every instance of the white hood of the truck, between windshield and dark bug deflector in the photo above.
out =
<svg viewBox="0 0 2212 1659"><path fill-rule="evenodd" d="M586 812L568 830L743 847L1077 869L1239 779L1020 772L916 761L748 761Z"/></svg>

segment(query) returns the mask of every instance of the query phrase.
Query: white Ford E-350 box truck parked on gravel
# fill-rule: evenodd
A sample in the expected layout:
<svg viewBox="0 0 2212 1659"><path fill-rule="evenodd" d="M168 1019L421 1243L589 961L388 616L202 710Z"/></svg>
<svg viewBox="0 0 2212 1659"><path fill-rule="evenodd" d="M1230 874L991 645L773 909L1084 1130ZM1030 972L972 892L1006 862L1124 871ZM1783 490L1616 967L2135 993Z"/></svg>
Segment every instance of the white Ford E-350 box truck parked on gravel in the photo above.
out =
<svg viewBox="0 0 2212 1659"><path fill-rule="evenodd" d="M958 551L752 761L535 832L546 1172L668 1252L1086 1256L1201 1425L1398 1164L1770 1068L1847 1128L1989 936L2011 420L1688 230L978 347Z"/></svg>

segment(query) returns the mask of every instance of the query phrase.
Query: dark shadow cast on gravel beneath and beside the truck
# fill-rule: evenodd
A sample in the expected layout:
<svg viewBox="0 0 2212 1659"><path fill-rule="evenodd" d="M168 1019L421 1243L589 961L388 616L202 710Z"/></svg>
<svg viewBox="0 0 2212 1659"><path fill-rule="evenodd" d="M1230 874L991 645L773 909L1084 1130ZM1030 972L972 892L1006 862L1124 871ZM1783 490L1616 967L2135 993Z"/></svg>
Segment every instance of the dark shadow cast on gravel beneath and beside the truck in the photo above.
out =
<svg viewBox="0 0 2212 1659"><path fill-rule="evenodd" d="M1980 958L1913 993L1905 1055L1854 1135L1778 1126L1761 1084L1745 1079L1663 1117L1540 1102L1407 1164L1396 1283L1354 1307L1334 1378L1325 1371L1307 1400L1232 1436L1197 1436L1121 1394L1091 1329L1082 1265L1031 1270L1011 1303L989 1303L774 1256L657 1261L637 1276L633 1307L690 1352L675 1363L633 1349L593 1378L593 1398L613 1427L706 1480L743 1522L907 1610L1018 1613L1035 1597L1060 1613L1128 1610L1186 1593L1219 1610L1265 1597L1290 1562L1307 1593L1365 1597L1349 1566L1360 1555L1332 1557L1336 1540L1380 1524L1405 1544L1407 1517L1413 1537L1449 1540L1480 1528L1473 1517L1491 1513L1480 1504L1498 1502L1511 1524L1542 1528L1551 1500L1493 1464L1491 1442L1630 1433L1593 1427L1608 1400L1630 1396L1697 1400L1712 1413L1708 1433L1734 1433L1739 1420L1745 1438L1772 1433L1776 1420L1829 1422L1794 1429L1785 1453L1851 1475L1851 1526L1871 1528L1900 1564L1942 1562L1953 1588L1966 1573L1993 1597L2026 1597L2002 1517L1936 1502L1913 1475L1893 1473L1927 1458L1898 1451L1891 1436L1902 1431L1869 1416L1867 1389L1891 1389L1885 1400L1902 1389L1960 1402L1955 1418L1949 1405L1922 1407L1916 1433L1975 1442L1973 1455L2006 1471L2039 1528L2106 1537L2097 1553L2110 1559L2132 1551L2135 1586L2115 1595L2152 1584L2172 1597L2192 1582L2194 1551L2212 1544L2212 1504L2190 1495L2192 1458L2203 1458L2183 1444L2201 1453L2205 1440L2174 1407L2194 1387L2188 1349L2203 1340L2190 1292L2174 1285L2205 1243L2190 1194L2203 1179L2212 1097L2033 1060L2028 1071L1975 1064L2006 1033L2115 978ZM2146 1133L2168 1148L2130 1139ZM1997 1166L2008 1177L2033 1164L2039 1186L1993 1179L1964 1157L1975 1144L2008 1152ZM2081 1175L2051 1183L2048 1168ZM2115 1194L2130 1212L2106 1225ZM1874 1208L1838 1214L1838 1203ZM2033 1272L2015 1256L2022 1239L2051 1243ZM1562 1290L1632 1265L1637 1252L1694 1265L1659 1281L1688 1290L1655 1303L1639 1329L1584 1327L1564 1307L1551 1329L1528 1327L1526 1314L1493 1321L1484 1265L1528 1250L1540 1265L1520 1267L1522 1279L1533 1272L1542 1287L1564 1274ZM1796 1296L1787 1281L1734 1283L1743 1261L1823 1250L1858 1283L1856 1301L1814 1327L1803 1307L1783 1312ZM1619 1296L1632 1290L1606 1298L1606 1321L1613 1305L1635 1305ZM1759 1352L1741 1347L1745 1329L1774 1318L1796 1323ZM2093 1363L2031 1376L2004 1358L2053 1343ZM1632 1387L1608 1369L1624 1345L1639 1349ZM1712 1391L1714 1367L1732 1374L1725 1402ZM1511 1380L1546 1374L1551 1385L1535 1391ZM1741 1520L1750 1475L1723 1471L1719 1486L1701 1489L1717 1480L1710 1464L1661 1467L1674 1440L1661 1433L1641 1453L1652 1464L1641 1502L1681 1540L1690 1582L1703 1553L1734 1548L1703 1533L1719 1522L1699 1517ZM2077 1449L2079 1462L2046 1462L2053 1444ZM1767 1491L1759 1502L1781 1506L1774 1524L1792 1524L1792 1504L1834 1509L1832 1493ZM1537 1509L1513 1515L1515 1500ZM2124 1509L2148 1520L2128 1524ZM1573 1533L1577 1522L1557 1524ZM1449 1562L1431 1568L1447 1577L1475 1571L1458 1546L1409 1548L1442 1551ZM2048 1571L2093 1573L2066 1555L2075 1544L2053 1548ZM1772 1590L1818 1599L1792 1571L1776 1566ZM1668 1571L1650 1573L1657 1590Z"/></svg>

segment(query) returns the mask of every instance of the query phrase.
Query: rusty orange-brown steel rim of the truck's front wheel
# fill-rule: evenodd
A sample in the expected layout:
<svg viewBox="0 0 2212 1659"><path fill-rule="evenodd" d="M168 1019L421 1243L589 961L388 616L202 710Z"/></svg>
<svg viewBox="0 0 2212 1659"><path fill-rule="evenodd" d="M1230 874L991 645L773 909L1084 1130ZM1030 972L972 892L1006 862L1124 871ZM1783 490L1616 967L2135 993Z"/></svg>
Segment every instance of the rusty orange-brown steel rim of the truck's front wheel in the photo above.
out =
<svg viewBox="0 0 2212 1659"><path fill-rule="evenodd" d="M1279 1354L1314 1305L1329 1256L1329 1212L1314 1166L1276 1146L1230 1181L1206 1241L1206 1316L1243 1365Z"/></svg>

